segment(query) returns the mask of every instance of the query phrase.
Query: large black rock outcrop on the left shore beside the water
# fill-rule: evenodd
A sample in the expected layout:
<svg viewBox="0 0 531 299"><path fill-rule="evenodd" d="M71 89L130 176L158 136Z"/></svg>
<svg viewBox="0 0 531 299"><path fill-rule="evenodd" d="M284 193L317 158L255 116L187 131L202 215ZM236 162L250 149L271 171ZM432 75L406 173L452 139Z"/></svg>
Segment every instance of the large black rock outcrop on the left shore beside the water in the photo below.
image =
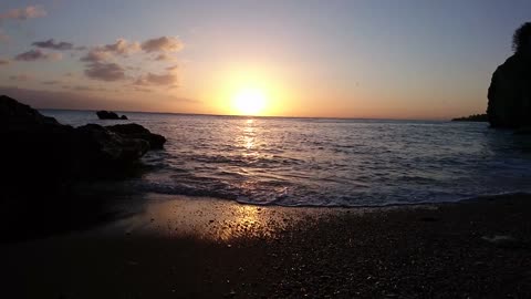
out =
<svg viewBox="0 0 531 299"><path fill-rule="evenodd" d="M138 165L150 148L148 140L101 125L60 124L6 95L0 96L0 140L1 185L9 190L0 196L8 197L45 194L79 179L122 175Z"/></svg>

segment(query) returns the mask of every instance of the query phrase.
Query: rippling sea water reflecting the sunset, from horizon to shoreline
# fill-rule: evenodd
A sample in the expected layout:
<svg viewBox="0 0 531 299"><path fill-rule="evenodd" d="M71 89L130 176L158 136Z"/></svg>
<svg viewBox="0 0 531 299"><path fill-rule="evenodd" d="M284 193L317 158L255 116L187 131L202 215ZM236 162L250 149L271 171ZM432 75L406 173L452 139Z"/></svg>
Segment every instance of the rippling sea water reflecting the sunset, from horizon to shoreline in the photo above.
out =
<svg viewBox="0 0 531 299"><path fill-rule="evenodd" d="M43 110L64 124L134 122L168 138L116 187L258 205L384 206L531 192L531 138L487 123ZM112 187L112 186L111 186Z"/></svg>

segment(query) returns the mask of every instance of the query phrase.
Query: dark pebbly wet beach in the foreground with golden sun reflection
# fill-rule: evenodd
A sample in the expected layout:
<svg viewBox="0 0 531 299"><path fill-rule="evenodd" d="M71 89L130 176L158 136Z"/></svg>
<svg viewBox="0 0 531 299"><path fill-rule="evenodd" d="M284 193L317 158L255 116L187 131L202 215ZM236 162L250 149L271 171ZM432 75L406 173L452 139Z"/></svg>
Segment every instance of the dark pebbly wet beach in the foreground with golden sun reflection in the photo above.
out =
<svg viewBox="0 0 531 299"><path fill-rule="evenodd" d="M0 245L2 298L529 298L531 196L284 208L148 195Z"/></svg>

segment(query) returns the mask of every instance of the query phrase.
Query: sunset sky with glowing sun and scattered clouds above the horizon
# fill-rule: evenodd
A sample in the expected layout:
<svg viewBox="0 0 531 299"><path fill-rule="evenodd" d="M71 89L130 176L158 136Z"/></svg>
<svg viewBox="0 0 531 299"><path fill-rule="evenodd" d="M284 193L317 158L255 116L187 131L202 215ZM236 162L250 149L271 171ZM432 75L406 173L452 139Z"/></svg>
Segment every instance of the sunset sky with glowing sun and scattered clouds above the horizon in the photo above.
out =
<svg viewBox="0 0 531 299"><path fill-rule="evenodd" d="M529 0L3 0L0 93L39 109L451 118L485 113L530 12Z"/></svg>

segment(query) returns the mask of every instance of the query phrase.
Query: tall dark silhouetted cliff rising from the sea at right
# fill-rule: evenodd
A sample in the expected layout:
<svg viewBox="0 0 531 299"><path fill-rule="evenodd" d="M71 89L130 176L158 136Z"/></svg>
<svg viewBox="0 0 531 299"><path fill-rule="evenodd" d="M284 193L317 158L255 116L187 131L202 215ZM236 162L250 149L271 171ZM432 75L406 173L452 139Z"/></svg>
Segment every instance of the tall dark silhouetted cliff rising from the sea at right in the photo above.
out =
<svg viewBox="0 0 531 299"><path fill-rule="evenodd" d="M488 118L492 127L531 126L531 23L514 33L516 53L498 66L489 86Z"/></svg>

